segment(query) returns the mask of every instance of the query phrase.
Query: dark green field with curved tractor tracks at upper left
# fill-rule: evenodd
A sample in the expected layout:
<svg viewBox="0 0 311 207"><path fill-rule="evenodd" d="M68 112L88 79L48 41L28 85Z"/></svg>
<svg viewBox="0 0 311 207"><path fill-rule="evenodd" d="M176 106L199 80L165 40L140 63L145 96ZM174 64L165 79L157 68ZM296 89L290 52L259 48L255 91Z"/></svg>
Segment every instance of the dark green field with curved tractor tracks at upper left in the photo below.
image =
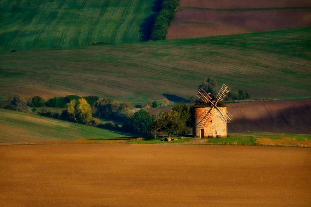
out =
<svg viewBox="0 0 311 207"><path fill-rule="evenodd" d="M147 41L154 0L2 0L0 53L92 42Z"/></svg>

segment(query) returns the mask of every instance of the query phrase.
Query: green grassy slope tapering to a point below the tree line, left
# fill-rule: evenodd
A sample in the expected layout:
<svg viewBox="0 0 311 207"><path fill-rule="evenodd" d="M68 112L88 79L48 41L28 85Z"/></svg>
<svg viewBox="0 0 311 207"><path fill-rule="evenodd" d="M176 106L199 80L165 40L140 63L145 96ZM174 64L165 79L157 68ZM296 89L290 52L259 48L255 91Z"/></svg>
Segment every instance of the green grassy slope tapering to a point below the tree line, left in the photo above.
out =
<svg viewBox="0 0 311 207"><path fill-rule="evenodd" d="M0 117L0 143L137 136L5 109Z"/></svg>

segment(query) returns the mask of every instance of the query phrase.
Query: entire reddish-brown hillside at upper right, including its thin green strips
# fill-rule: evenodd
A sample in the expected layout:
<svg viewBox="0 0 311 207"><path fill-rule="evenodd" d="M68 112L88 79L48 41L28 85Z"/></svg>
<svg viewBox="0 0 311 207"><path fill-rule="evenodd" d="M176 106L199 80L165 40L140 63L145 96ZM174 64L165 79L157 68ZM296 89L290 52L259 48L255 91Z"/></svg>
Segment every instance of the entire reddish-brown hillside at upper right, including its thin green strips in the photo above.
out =
<svg viewBox="0 0 311 207"><path fill-rule="evenodd" d="M311 26L310 1L180 0L166 39Z"/></svg>

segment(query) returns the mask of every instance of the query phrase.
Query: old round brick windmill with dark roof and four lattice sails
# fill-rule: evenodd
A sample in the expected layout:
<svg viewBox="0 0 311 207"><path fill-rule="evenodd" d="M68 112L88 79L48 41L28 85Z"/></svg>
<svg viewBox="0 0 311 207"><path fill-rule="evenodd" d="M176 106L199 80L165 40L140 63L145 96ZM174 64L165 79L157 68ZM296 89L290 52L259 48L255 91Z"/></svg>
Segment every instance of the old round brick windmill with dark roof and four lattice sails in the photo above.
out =
<svg viewBox="0 0 311 207"><path fill-rule="evenodd" d="M225 84L221 87L217 97L207 94L200 88L196 96L201 100L193 108L193 128L195 137L227 137L227 123L232 115L227 112L227 106L221 101L230 89Z"/></svg>

